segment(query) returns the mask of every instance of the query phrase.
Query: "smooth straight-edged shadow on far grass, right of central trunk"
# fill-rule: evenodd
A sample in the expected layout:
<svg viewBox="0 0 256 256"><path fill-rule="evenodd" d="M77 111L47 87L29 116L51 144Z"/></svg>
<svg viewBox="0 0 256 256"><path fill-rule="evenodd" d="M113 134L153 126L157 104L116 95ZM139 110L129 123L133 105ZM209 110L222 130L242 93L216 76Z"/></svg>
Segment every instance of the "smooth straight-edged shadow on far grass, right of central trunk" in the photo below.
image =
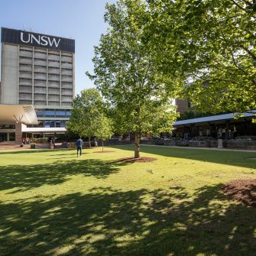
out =
<svg viewBox="0 0 256 256"><path fill-rule="evenodd" d="M132 146L113 146L125 151L134 151ZM243 151L216 151L216 150L203 150L199 148L177 148L177 147L151 147L141 145L141 156L143 153L156 154L164 157L177 157L188 160L199 160L203 162L211 162L215 164L227 164L238 167L248 167L255 169L255 161L248 160L256 156L254 152Z"/></svg>

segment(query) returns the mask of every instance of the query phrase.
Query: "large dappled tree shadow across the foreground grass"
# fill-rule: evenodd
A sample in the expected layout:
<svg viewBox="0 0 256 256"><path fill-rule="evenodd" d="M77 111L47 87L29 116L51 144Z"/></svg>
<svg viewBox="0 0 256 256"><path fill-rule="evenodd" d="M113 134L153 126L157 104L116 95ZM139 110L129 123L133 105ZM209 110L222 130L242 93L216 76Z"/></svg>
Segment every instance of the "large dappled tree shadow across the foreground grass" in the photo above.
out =
<svg viewBox="0 0 256 256"><path fill-rule="evenodd" d="M255 209L228 203L219 186L194 195L120 191L1 203L6 255L254 255Z"/></svg>

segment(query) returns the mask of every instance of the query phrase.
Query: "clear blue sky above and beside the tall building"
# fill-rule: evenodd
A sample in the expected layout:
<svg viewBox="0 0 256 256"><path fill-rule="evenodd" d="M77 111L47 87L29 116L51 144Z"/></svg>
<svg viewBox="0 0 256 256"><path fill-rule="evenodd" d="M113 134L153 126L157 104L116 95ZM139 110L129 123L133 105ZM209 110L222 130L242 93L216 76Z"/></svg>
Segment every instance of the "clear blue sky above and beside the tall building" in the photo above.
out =
<svg viewBox="0 0 256 256"><path fill-rule="evenodd" d="M0 26L76 40L76 93L92 87L86 70L93 70L93 46L105 33L105 3L115 0L2 0Z"/></svg>

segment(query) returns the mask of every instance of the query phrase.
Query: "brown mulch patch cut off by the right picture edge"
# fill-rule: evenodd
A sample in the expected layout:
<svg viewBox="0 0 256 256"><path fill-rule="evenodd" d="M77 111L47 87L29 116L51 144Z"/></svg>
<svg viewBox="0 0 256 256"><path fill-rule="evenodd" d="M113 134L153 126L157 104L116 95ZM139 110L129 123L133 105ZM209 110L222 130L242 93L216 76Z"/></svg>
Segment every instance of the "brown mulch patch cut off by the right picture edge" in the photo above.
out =
<svg viewBox="0 0 256 256"><path fill-rule="evenodd" d="M236 201L256 207L256 180L232 180L222 187L222 191Z"/></svg>

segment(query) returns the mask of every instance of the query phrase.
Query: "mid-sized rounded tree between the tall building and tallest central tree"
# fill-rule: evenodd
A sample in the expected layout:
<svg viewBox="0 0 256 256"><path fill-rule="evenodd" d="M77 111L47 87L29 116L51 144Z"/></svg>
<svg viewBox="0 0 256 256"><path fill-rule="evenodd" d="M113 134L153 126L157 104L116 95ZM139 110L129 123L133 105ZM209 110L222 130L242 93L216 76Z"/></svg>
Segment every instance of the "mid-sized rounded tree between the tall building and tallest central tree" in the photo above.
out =
<svg viewBox="0 0 256 256"><path fill-rule="evenodd" d="M102 108L102 96L94 88L83 89L73 100L73 109L67 128L79 134L80 137L88 137L89 147L91 147L92 136L95 136L101 127Z"/></svg>

